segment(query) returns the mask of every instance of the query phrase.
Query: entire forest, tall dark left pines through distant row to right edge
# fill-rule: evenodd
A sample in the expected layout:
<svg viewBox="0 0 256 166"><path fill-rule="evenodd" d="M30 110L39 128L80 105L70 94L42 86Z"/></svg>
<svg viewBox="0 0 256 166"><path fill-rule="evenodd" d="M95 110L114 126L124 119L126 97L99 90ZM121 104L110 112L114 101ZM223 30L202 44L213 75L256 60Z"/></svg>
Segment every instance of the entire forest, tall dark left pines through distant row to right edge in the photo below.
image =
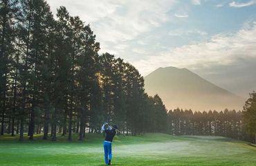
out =
<svg viewBox="0 0 256 166"><path fill-rule="evenodd" d="M138 70L109 53L89 24L64 6L53 17L44 0L1 0L1 135L98 133L103 122L123 133L214 135L256 141L255 92L243 111L167 111L149 96ZM254 139L255 138L255 139Z"/></svg>

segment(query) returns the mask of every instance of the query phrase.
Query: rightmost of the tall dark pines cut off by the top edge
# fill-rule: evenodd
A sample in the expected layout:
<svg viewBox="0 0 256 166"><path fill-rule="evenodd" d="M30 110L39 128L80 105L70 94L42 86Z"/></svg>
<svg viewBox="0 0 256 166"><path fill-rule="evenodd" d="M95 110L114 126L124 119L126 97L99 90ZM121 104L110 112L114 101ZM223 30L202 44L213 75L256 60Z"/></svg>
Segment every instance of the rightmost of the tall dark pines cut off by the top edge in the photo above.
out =
<svg viewBox="0 0 256 166"><path fill-rule="evenodd" d="M53 19L53 15L50 11L50 6L43 1L33 1L33 6L35 11L33 12L34 26L31 30L32 44L31 44L31 86L32 86L32 107L30 109L30 124L28 135L30 140L33 140L33 134L35 132L35 119L36 115L40 115L39 107L42 107L42 99L44 98L44 87L42 82L44 82L44 62L46 61L48 50L46 46L48 45L48 30L51 28L51 23L49 21ZM49 20L50 19L50 20Z"/></svg>

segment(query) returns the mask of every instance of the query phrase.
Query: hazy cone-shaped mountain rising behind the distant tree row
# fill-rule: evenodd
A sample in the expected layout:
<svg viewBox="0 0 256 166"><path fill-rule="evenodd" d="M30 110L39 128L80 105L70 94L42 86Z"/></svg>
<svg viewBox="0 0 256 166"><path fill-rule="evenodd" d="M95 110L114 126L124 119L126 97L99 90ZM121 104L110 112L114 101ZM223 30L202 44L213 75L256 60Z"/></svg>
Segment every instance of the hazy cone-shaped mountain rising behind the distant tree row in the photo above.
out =
<svg viewBox="0 0 256 166"><path fill-rule="evenodd" d="M187 68L158 68L144 77L145 91L158 94L167 109L241 110L245 99L208 82Z"/></svg>

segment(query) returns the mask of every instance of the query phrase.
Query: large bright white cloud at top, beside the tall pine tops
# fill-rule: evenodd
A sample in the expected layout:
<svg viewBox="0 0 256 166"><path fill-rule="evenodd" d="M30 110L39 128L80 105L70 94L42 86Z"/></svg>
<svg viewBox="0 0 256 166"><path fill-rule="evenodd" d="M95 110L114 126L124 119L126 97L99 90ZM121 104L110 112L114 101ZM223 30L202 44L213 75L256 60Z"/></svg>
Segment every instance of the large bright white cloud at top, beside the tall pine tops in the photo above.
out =
<svg viewBox="0 0 256 166"><path fill-rule="evenodd" d="M47 1L52 10L60 4L57 0ZM71 15L79 15L91 24L105 52L171 21L167 12L175 3L176 0L62 0L61 4ZM118 51L114 48L111 52Z"/></svg>

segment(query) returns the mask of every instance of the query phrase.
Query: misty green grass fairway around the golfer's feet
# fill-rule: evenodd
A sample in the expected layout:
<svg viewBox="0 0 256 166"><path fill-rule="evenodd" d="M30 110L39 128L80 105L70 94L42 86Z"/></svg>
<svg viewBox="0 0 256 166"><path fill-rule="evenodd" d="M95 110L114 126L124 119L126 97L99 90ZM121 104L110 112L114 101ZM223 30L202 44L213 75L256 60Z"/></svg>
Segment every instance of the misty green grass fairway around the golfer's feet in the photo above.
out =
<svg viewBox="0 0 256 166"><path fill-rule="evenodd" d="M41 137L19 142L1 136L0 165L104 165L102 134L86 134L83 142ZM256 147L215 136L116 136L112 153L112 165L256 165Z"/></svg>

